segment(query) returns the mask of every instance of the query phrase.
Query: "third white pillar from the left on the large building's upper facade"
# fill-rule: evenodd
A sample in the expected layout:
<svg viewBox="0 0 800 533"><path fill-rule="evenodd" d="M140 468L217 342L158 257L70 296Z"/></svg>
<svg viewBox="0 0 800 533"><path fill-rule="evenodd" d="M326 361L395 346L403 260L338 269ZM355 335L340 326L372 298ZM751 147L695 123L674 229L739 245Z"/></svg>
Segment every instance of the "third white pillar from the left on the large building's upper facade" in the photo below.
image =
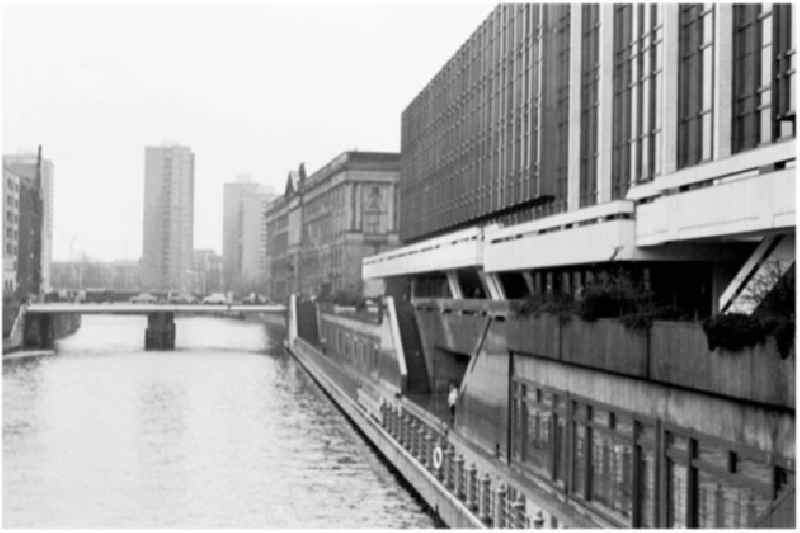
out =
<svg viewBox="0 0 800 533"><path fill-rule="evenodd" d="M662 175L669 175L678 167L678 44L680 33L678 4L660 4L664 24L664 64L662 75L664 80L664 97L661 100L663 116L661 117L662 133ZM658 165L656 165L658 166Z"/></svg>

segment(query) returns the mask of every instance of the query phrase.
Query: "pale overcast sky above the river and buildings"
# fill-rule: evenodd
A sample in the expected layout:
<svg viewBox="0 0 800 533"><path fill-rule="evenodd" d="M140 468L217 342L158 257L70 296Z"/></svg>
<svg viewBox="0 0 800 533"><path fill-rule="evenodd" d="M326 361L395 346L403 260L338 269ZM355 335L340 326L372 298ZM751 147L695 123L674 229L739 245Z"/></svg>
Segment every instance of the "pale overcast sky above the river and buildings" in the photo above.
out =
<svg viewBox="0 0 800 533"><path fill-rule="evenodd" d="M12 5L3 152L53 160L54 258L138 258L144 147L195 152L195 248L222 185L282 191L345 150L400 150L400 113L491 11L472 4Z"/></svg>

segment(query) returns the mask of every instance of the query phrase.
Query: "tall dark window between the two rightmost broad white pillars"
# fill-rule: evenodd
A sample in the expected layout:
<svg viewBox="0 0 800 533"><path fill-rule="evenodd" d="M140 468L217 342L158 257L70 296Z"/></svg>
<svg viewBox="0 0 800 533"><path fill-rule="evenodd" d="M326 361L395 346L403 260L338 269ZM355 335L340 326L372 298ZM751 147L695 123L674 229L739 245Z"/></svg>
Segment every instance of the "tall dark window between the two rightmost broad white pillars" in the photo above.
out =
<svg viewBox="0 0 800 533"><path fill-rule="evenodd" d="M681 4L678 65L678 168L711 159L714 7Z"/></svg>

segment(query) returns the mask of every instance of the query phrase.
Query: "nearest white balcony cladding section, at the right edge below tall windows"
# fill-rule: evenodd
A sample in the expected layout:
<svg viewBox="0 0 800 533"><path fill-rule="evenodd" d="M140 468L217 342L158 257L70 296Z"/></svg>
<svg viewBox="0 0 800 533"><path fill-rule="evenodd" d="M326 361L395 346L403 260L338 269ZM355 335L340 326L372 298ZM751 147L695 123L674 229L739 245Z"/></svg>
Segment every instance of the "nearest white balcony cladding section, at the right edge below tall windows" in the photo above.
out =
<svg viewBox="0 0 800 533"><path fill-rule="evenodd" d="M732 177L639 205L636 245L794 227L796 170Z"/></svg>

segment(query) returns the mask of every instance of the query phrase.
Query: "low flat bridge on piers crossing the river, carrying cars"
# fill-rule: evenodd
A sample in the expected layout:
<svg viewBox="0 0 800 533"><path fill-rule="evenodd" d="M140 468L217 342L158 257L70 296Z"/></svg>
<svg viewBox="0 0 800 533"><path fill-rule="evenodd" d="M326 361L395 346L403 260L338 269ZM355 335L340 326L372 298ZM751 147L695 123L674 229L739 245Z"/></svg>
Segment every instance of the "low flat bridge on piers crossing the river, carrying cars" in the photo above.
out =
<svg viewBox="0 0 800 533"><path fill-rule="evenodd" d="M24 310L25 338L35 339L39 348L51 348L55 341L54 317L58 315L147 315L144 335L146 350L175 348L175 315L283 314L281 304L135 304L135 303L33 303Z"/></svg>

